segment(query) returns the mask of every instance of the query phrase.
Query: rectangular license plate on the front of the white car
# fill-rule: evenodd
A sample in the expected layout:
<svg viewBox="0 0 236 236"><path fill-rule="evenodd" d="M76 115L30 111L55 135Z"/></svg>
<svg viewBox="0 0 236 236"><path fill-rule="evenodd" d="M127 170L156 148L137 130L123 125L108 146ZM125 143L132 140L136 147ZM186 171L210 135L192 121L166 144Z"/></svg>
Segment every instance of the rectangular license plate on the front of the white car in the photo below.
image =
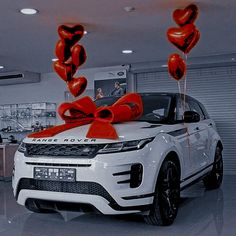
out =
<svg viewBox="0 0 236 236"><path fill-rule="evenodd" d="M34 179L75 182L76 169L34 167Z"/></svg>

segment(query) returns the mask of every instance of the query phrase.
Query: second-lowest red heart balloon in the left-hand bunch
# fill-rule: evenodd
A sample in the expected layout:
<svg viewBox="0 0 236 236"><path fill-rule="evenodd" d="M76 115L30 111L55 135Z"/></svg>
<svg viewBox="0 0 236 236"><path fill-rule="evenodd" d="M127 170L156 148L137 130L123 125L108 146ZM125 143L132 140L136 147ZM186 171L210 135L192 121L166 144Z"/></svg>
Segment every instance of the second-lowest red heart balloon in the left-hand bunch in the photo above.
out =
<svg viewBox="0 0 236 236"><path fill-rule="evenodd" d="M65 64L61 61L53 63L54 70L64 80L70 81L76 72L76 67L73 64Z"/></svg>

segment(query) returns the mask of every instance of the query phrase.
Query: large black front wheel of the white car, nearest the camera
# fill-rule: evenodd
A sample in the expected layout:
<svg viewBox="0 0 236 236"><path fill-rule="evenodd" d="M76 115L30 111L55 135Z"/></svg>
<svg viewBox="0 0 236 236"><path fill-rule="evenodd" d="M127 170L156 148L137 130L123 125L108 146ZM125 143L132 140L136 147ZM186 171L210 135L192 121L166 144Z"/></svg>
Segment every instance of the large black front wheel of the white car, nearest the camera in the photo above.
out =
<svg viewBox="0 0 236 236"><path fill-rule="evenodd" d="M163 162L155 190L152 208L144 216L147 224L157 226L171 225L175 220L180 199L180 170L167 159Z"/></svg>

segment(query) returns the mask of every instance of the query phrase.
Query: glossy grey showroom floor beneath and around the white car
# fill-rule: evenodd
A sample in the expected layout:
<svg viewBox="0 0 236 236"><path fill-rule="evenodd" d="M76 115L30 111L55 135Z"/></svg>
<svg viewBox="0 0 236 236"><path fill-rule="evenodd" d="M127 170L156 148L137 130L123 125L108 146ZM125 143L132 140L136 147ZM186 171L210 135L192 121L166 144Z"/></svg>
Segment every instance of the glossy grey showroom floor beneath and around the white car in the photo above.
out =
<svg viewBox="0 0 236 236"><path fill-rule="evenodd" d="M11 183L0 182L0 236L236 236L236 176L225 176L221 189L205 191L199 183L182 195L174 224L155 227L137 215L30 213L16 204Z"/></svg>

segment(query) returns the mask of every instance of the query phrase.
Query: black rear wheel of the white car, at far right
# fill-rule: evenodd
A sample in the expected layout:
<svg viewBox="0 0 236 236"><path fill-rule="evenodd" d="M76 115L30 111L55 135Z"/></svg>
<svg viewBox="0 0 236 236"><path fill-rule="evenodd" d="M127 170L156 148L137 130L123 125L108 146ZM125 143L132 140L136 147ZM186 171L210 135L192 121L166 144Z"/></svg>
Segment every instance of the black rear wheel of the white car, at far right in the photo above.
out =
<svg viewBox="0 0 236 236"><path fill-rule="evenodd" d="M216 147L213 168L208 176L203 179L206 189L217 189L223 180L223 158L222 149Z"/></svg>

